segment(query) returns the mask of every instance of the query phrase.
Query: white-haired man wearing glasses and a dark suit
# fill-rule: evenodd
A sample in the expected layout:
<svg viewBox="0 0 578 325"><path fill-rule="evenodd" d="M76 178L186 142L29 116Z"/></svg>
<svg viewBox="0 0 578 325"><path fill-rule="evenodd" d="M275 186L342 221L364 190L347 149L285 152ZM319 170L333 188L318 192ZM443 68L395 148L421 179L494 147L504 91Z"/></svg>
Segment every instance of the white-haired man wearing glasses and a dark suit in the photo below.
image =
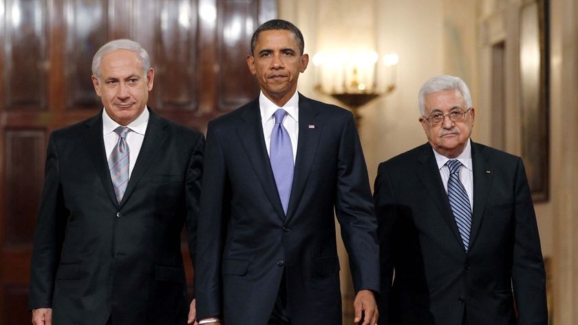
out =
<svg viewBox="0 0 578 325"><path fill-rule="evenodd" d="M429 79L419 105L429 142L381 163L375 181L380 324L546 325L522 159L470 140L460 78Z"/></svg>

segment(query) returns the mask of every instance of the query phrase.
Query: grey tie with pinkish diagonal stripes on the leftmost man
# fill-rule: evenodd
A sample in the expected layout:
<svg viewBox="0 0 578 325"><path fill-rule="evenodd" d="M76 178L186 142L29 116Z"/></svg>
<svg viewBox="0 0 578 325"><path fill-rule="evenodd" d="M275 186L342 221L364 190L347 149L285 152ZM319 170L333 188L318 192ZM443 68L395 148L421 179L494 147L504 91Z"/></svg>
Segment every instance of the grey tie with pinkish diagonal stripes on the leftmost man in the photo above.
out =
<svg viewBox="0 0 578 325"><path fill-rule="evenodd" d="M127 133L131 129L128 127L117 127L114 132L118 134L118 142L112 149L108 163L110 178L116 194L116 200L120 203L125 189L129 183L129 145L127 145Z"/></svg>

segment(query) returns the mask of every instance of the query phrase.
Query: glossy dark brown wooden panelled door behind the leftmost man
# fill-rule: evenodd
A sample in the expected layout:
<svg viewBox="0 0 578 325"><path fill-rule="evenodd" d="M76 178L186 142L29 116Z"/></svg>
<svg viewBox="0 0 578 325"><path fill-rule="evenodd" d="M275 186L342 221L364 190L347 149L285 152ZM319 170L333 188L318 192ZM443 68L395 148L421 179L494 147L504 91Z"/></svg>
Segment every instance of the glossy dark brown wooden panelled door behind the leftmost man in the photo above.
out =
<svg viewBox="0 0 578 325"><path fill-rule="evenodd" d="M0 0L0 325L30 324L47 138L101 109L90 79L100 45L141 43L156 72L149 106L204 131L257 96L245 57L276 15L275 0Z"/></svg>

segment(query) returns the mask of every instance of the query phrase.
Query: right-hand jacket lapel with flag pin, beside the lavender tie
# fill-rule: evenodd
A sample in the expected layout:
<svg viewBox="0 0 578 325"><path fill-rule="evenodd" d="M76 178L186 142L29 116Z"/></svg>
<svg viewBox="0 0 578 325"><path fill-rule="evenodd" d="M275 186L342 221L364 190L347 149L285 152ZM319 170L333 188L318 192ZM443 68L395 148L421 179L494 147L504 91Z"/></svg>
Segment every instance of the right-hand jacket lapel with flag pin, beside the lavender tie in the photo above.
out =
<svg viewBox="0 0 578 325"><path fill-rule="evenodd" d="M309 171L317 153L317 145L319 145L323 128L317 114L319 114L317 107L311 105L308 98L299 94L299 140L297 141L295 174L293 174L287 219L295 214L295 209L297 209L303 195L303 189L305 189Z"/></svg>

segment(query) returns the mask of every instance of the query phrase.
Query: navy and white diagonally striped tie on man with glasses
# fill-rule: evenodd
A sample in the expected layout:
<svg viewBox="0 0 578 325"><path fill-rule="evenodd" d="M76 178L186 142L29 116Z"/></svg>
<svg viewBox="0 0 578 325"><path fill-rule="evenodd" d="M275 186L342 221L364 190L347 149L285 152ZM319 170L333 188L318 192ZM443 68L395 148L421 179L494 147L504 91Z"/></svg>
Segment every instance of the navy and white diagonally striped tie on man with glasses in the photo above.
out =
<svg viewBox="0 0 578 325"><path fill-rule="evenodd" d="M468 251L471 231L471 207L468 193L462 182L460 182L460 167L462 167L462 163L460 160L453 159L448 160L446 165L449 168L449 180L447 180L449 205L451 206L451 211L453 211L453 218L456 218L464 247Z"/></svg>

